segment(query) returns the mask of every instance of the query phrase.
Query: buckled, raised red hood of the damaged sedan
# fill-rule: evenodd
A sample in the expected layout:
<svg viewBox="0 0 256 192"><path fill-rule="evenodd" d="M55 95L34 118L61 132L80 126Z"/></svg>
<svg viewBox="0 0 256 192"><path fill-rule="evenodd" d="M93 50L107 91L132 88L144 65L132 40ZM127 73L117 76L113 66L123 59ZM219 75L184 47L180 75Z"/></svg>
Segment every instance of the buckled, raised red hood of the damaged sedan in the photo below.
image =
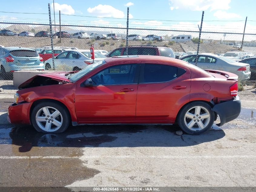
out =
<svg viewBox="0 0 256 192"><path fill-rule="evenodd" d="M18 89L27 87L38 76L44 76L44 77L48 77L48 78L54 79L54 80L59 81L59 82L69 83L70 80L67 79L65 77L65 75L66 74L70 74L70 73L75 73L75 72L71 71L71 72L48 72L48 73L42 73L42 74L36 75L36 76L28 79L24 83L20 84L18 86Z"/></svg>

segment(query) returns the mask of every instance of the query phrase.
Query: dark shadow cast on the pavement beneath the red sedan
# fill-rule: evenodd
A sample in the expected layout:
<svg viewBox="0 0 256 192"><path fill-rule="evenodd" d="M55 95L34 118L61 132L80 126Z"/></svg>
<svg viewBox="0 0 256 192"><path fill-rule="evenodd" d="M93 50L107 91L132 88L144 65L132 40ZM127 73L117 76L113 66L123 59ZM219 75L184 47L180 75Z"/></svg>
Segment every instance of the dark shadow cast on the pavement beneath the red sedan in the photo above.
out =
<svg viewBox="0 0 256 192"><path fill-rule="evenodd" d="M4 115L7 116L6 113L1 116ZM182 136L175 133L177 130L181 129L168 125L88 125L69 126L64 133L45 134L31 125L0 123L0 144L21 146L19 152L32 147L185 147L225 136L221 129Z"/></svg>

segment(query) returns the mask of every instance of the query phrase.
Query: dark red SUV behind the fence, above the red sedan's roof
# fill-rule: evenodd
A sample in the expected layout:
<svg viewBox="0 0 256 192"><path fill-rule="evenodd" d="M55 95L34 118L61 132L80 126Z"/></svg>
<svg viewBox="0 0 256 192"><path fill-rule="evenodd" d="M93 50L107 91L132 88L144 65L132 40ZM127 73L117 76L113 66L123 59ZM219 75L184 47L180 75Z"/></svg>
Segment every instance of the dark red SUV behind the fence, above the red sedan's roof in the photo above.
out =
<svg viewBox="0 0 256 192"><path fill-rule="evenodd" d="M127 49L127 55L155 55L175 58L173 50L166 46L131 45ZM113 51L109 52L106 56L112 57L122 55L126 55L126 47L114 49Z"/></svg>

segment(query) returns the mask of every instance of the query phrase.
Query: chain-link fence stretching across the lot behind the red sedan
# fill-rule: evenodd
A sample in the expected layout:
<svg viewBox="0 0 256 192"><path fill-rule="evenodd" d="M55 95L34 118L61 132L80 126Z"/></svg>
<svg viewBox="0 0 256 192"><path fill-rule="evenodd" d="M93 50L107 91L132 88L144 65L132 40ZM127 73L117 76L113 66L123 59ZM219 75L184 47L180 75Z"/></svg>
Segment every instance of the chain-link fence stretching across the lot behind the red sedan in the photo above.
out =
<svg viewBox="0 0 256 192"><path fill-rule="evenodd" d="M128 33L125 24L108 26L106 21L95 21L95 25L51 24L0 22L2 80L12 79L18 70L76 71L121 55L167 56L205 70L232 72L239 80L256 80L256 34L209 31L210 27L204 30L203 25L199 40L200 29L191 28L191 24L177 30L173 25L146 28L141 27L142 22L129 21ZM157 22L150 23L154 25ZM91 45L95 49L94 61Z"/></svg>

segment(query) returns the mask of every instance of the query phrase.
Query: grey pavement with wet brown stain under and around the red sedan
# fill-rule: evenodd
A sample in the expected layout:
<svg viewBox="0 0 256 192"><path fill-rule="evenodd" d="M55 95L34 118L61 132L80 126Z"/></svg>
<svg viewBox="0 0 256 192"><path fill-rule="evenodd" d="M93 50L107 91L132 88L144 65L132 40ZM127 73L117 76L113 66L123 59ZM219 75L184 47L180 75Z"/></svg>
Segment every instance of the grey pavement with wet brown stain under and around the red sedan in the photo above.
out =
<svg viewBox="0 0 256 192"><path fill-rule="evenodd" d="M0 187L256 187L256 89L245 88L238 119L200 136L179 136L175 126L138 125L38 133L7 122L15 88L6 85L0 93Z"/></svg>

